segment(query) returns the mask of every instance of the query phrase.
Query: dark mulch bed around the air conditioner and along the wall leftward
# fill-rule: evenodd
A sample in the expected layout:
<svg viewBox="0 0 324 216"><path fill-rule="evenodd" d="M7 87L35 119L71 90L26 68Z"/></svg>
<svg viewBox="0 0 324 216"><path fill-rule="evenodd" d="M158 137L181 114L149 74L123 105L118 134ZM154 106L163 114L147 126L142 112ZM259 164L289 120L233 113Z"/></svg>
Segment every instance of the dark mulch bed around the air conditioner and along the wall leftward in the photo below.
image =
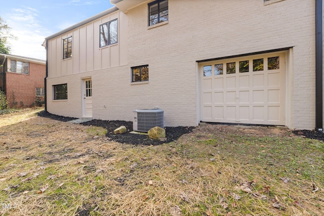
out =
<svg viewBox="0 0 324 216"><path fill-rule="evenodd" d="M54 115L47 111L42 111L38 113L38 116L47 117L59 121L71 121L76 118L71 117L64 117L60 115ZM164 140L152 140L148 138L146 135L141 134L130 134L133 131L133 122L131 121L119 121L119 120L112 120L112 121L105 121L105 120L97 120L93 119L91 121L80 123L83 125L93 125L93 126L100 126L107 129L106 137L109 140L115 141L118 143L127 143L133 145L160 145L163 143L170 143L172 141L176 141L179 137L184 134L190 133L193 128L195 127L185 127L185 126L177 126L177 127L165 127L166 129L166 139ZM114 129L118 128L119 126L124 125L127 128L127 133L125 134L118 134L114 135Z"/></svg>

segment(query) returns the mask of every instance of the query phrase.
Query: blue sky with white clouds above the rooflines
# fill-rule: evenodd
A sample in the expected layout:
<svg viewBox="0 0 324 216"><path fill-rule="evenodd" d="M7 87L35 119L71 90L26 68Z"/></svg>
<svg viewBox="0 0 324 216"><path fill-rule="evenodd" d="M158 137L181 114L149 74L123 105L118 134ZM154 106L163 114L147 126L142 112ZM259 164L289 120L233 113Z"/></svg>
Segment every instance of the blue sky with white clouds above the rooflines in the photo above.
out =
<svg viewBox="0 0 324 216"><path fill-rule="evenodd" d="M8 0L0 5L0 17L17 37L10 40L12 55L45 60L45 37L111 7L109 0Z"/></svg>

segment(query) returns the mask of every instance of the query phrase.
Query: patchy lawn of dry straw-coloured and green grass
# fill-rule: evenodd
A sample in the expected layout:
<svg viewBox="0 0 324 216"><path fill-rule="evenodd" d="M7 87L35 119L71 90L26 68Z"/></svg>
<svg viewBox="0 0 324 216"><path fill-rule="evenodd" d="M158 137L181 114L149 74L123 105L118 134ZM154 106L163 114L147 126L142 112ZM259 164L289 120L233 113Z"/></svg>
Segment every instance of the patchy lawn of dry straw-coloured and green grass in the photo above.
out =
<svg viewBox="0 0 324 216"><path fill-rule="evenodd" d="M0 115L1 215L324 215L324 144L274 127L200 126L175 142Z"/></svg>

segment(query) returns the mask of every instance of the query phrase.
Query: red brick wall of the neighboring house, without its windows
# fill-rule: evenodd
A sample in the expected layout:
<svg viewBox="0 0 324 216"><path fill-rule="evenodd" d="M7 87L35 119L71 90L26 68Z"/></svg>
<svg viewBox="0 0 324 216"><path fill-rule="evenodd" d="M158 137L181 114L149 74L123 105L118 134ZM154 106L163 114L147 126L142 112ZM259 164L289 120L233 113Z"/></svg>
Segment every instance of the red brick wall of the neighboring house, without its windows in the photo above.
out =
<svg viewBox="0 0 324 216"><path fill-rule="evenodd" d="M36 100L36 88L44 88L45 76L46 65L32 62L29 62L29 74L6 72L9 107L31 106Z"/></svg>

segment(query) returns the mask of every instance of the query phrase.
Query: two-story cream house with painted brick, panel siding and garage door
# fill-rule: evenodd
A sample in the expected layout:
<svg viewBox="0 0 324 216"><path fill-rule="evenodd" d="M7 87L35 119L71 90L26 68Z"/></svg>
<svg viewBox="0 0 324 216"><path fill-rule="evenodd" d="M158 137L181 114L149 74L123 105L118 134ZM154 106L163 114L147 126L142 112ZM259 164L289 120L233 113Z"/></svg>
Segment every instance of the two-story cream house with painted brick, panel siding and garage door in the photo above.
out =
<svg viewBox="0 0 324 216"><path fill-rule="evenodd" d="M321 1L110 2L46 38L50 113L322 128Z"/></svg>

